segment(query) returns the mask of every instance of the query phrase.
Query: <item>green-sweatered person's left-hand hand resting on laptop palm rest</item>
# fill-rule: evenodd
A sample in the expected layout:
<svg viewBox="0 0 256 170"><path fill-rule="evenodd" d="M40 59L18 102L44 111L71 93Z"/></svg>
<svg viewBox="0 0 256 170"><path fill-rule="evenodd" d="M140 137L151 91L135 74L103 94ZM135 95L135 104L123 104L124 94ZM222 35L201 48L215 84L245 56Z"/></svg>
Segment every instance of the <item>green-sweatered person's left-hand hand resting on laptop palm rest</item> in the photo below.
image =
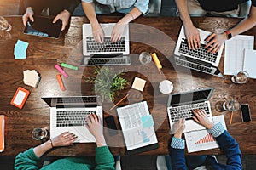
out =
<svg viewBox="0 0 256 170"><path fill-rule="evenodd" d="M75 134L65 132L51 139L51 142L53 147L68 146L68 145L72 145L73 142L76 140L76 138L77 136Z"/></svg>

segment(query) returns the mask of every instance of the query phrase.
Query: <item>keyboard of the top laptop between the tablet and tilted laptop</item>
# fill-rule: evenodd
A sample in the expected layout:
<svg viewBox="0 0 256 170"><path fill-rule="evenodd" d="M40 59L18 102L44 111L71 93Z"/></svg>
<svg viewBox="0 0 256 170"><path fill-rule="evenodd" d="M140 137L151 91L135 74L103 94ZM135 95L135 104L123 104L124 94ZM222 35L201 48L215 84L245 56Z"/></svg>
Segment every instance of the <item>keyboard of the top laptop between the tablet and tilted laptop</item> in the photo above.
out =
<svg viewBox="0 0 256 170"><path fill-rule="evenodd" d="M94 37L86 37L87 52L125 52L125 37L121 37L118 42L111 42L110 39L111 37L104 37L104 42L98 43L94 40Z"/></svg>

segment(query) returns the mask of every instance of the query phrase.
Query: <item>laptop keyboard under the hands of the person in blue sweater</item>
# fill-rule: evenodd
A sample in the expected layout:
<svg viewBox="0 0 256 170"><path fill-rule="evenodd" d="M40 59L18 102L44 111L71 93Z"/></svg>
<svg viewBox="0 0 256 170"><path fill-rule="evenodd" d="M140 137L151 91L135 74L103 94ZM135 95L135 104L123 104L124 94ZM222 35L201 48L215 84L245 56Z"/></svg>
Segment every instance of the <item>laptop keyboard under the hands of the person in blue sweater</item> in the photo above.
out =
<svg viewBox="0 0 256 170"><path fill-rule="evenodd" d="M184 118L185 120L193 120L192 118L192 116L194 116L193 110L195 109L204 110L206 111L207 115L210 116L207 103L181 105L181 106L169 108L171 121L177 122L179 119L182 119L182 118Z"/></svg>

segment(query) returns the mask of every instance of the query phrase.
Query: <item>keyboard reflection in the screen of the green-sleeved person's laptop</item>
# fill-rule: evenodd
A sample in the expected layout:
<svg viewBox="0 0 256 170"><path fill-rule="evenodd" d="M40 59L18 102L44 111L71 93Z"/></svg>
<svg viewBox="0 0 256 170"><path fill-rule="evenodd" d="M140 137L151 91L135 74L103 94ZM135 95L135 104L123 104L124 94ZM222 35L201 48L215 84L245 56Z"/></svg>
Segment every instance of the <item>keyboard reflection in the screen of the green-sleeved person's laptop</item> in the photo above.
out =
<svg viewBox="0 0 256 170"><path fill-rule="evenodd" d="M70 104L70 103L96 103L96 96L84 96L84 97L67 97L67 98L58 98L58 104Z"/></svg>

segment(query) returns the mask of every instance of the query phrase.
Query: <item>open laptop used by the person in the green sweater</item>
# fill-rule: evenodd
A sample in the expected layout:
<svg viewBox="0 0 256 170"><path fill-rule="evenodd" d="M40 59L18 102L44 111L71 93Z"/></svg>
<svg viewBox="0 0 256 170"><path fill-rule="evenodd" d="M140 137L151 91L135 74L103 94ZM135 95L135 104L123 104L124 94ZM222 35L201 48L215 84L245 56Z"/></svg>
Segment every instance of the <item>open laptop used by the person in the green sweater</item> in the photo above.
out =
<svg viewBox="0 0 256 170"><path fill-rule="evenodd" d="M96 142L84 125L85 118L96 114L102 118L99 96L43 97L50 106L50 138L63 133L74 133L77 143Z"/></svg>

